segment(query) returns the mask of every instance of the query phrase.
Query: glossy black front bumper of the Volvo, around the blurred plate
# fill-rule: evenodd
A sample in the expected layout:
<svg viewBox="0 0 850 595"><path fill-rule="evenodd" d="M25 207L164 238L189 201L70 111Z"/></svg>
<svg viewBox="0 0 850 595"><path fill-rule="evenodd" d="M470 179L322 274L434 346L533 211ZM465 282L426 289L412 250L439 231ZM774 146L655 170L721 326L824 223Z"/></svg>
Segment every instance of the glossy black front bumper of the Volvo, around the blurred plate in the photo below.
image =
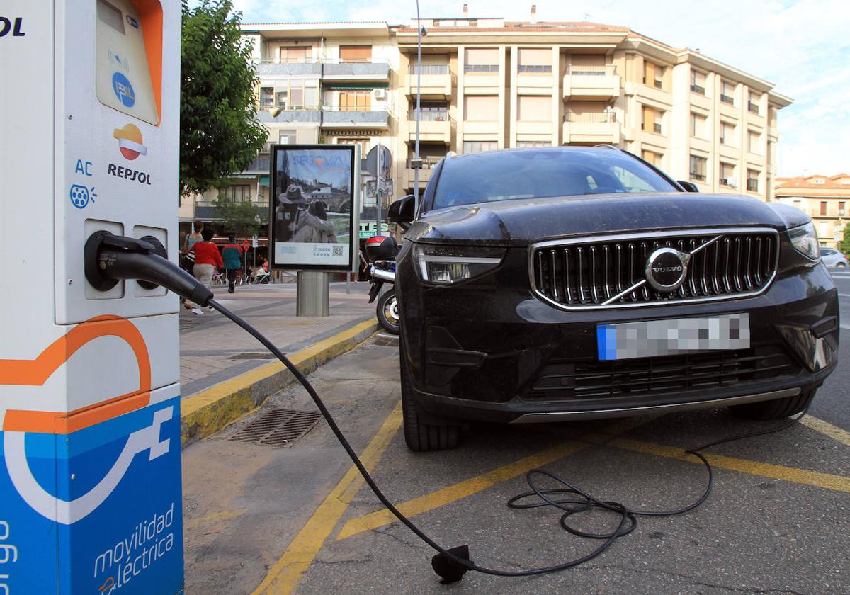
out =
<svg viewBox="0 0 850 595"><path fill-rule="evenodd" d="M515 252L512 255L512 252ZM549 422L778 399L817 388L836 365L836 289L820 263L780 270L757 297L653 308L562 311L534 297L508 251L502 268L425 286L399 262L403 360L433 421ZM751 348L601 362L597 326L746 312Z"/></svg>

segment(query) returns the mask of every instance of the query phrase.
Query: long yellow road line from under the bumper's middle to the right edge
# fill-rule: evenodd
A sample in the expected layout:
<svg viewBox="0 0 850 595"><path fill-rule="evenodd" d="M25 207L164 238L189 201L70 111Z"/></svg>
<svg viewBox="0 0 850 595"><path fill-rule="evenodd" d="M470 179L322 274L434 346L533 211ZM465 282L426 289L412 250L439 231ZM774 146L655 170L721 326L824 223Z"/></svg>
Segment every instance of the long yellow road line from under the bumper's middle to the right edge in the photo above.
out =
<svg viewBox="0 0 850 595"><path fill-rule="evenodd" d="M654 445L648 442L621 438L610 440L608 444L624 450L641 452L646 455L666 456L667 458L677 459L679 461L702 464L700 459L693 455L686 455L681 448L673 446ZM795 484L813 485L828 490L850 492L850 478L843 477L842 475L818 473L817 471L808 471L808 469L783 467L766 462L747 461L746 459L736 459L732 456L711 455L708 453L703 453L703 456L708 459L712 467L738 471L740 473L750 473L751 475L760 475L771 479L782 479L783 481L789 481Z"/></svg>

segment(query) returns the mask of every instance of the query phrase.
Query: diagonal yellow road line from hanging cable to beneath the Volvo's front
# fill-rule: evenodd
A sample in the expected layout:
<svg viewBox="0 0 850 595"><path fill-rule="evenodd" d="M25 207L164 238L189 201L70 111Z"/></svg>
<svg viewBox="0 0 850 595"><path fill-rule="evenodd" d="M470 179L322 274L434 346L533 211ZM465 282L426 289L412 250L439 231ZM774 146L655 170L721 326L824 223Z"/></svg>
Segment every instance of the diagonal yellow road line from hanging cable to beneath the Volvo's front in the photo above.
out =
<svg viewBox="0 0 850 595"><path fill-rule="evenodd" d="M461 500L467 496L472 496L481 490L486 490L508 479L513 479L531 469L558 461L558 459L564 458L564 456L572 455L589 447L590 445L588 444L578 442L567 442L563 445L554 446L553 448L538 452L536 455L526 456L519 461L496 467L489 473L484 473L472 479L466 479L442 490L433 491L424 496L406 501L403 504L399 504L397 508L407 517L427 513L429 510L445 506L450 502ZM344 524L343 529L337 535L337 541L358 535L364 531L383 527L394 523L396 520L394 514L390 513L386 508L374 513L365 514L357 519L351 519L348 523Z"/></svg>

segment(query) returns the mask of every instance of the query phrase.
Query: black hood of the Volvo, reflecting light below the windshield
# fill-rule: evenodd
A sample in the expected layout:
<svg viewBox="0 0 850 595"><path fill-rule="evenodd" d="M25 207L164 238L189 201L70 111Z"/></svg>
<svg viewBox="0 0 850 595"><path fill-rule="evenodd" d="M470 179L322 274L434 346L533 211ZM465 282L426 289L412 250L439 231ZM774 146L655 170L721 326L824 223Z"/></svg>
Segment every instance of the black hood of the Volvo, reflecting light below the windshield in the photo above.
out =
<svg viewBox="0 0 850 595"><path fill-rule="evenodd" d="M571 235L717 227L788 229L810 220L749 196L613 194L517 199L427 212L405 233L428 243L519 246Z"/></svg>

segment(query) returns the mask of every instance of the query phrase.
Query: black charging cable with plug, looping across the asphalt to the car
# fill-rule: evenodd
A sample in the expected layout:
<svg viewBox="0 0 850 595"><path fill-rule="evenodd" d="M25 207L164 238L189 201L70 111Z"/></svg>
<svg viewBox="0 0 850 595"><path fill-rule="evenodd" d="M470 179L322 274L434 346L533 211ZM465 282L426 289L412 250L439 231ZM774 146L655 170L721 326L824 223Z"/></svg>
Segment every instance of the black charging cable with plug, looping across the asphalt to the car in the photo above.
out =
<svg viewBox="0 0 850 595"><path fill-rule="evenodd" d="M384 507L387 507L390 513L394 514L396 519L399 519L402 524L405 524L405 526L416 534L417 537L437 552L437 554L431 558L431 565L433 570L440 576L440 582L443 584L460 581L462 576L468 570L474 570L486 575L496 576L542 575L548 572L568 569L570 567L577 566L578 564L583 564L592 558L596 558L599 554L608 549L616 539L631 533L635 527L638 526L638 516L664 517L687 513L689 510L699 507L700 504L706 501L706 498L708 498L711 494L711 488L714 484L714 475L711 471L711 464L708 462L708 459L706 459L706 456L701 453L702 450L706 450L712 446L734 442L735 440L753 438L756 436L779 432L780 430L789 428L791 425L799 422L808 411L807 407L807 409L802 411L799 416L791 418L789 421L779 425L777 428L745 433L731 438L720 439L692 450L685 450L685 454L697 457L700 459L700 462L706 466L708 480L706 482L706 489L699 498L688 506L677 508L675 510L638 510L628 508L619 502L603 501L596 496L592 496L586 491L581 490L578 486L570 484L570 482L559 478L553 473L549 473L542 469L532 469L530 472L526 473L526 480L531 490L525 491L517 496L513 496L513 498L507 501L507 506L518 509L536 507L558 508L559 510L564 511L560 519L561 527L564 530L569 531L575 536L603 540L603 543L591 553L587 553L580 558L575 558L562 564L555 564L553 566L545 566L532 570L491 569L475 564L469 558L469 547L467 545L451 548L442 547L439 543L433 541L433 539L424 531L419 529L416 524L411 521L411 519L405 517L405 515L401 513L391 501L389 501L387 496L384 496L375 480L372 479L370 473L363 466L363 463L360 462L360 457L357 456L357 453L354 452L354 449L348 444L348 440L345 438L342 430L340 430L337 426L337 422L334 421L333 416L331 416L331 412L327 410L324 402L322 402L322 399L319 394L316 393L315 388L313 388L313 385L310 384L307 377L305 377L303 373L298 370L294 364L292 364L292 361L286 357L286 354L281 352L274 343L269 341L268 338L264 337L263 333L246 322L246 320L242 320L237 314L234 314L229 309L225 308L221 303L218 303L213 298L212 292L206 286L201 285L201 283L195 280L194 277L186 273L183 269L179 269L176 264L165 258L164 248L154 238L145 237L138 240L112 235L106 231L99 231L95 232L88 238L85 249L86 278L89 283L96 288L101 289L101 291L111 289L112 286L116 285L118 280L122 279L139 280L139 282L146 283L146 287L148 288L153 288L159 285L167 287L181 297L190 299L201 306L211 306L213 309L223 314L226 318L232 320L237 326L241 326L242 329L262 343L265 348L269 349L272 354L275 354L275 357L277 357L277 359L292 372L292 376L297 379L297 381L310 395L310 398L313 399L314 404L319 409L322 416L325 417L328 426L331 428L331 432L333 432L337 437L340 445L343 446L343 449L354 463L354 467L357 467L357 470L360 471L360 474L363 476L363 479L365 479L366 484L369 485L372 492L375 496L377 496L377 499L381 501ZM551 479L563 487L543 489L537 484L538 478ZM532 498L536 498L536 500L531 500ZM619 516L620 521L617 528L610 533L589 533L587 531L575 529L575 527L568 523L568 520L572 515L587 512L592 509L602 509L609 511L610 513L615 513Z"/></svg>

